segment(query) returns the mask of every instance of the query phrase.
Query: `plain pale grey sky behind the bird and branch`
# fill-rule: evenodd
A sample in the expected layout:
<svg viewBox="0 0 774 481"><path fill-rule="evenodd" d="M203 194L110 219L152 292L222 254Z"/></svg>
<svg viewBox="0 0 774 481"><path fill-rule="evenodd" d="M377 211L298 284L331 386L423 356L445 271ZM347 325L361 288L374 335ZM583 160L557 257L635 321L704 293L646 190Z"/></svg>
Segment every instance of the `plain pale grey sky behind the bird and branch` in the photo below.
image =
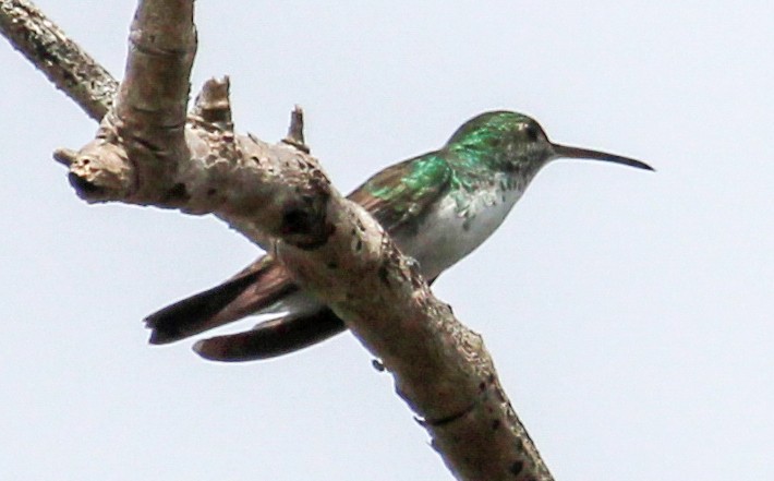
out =
<svg viewBox="0 0 774 481"><path fill-rule="evenodd" d="M39 4L120 76L134 1ZM655 166L549 166L434 290L558 480L774 479L774 3L197 7L194 89L230 74L266 140L303 105L343 191L500 108ZM148 346L146 314L257 251L211 217L77 200L50 154L95 123L0 62L0 479L450 479L349 334L241 365Z"/></svg>

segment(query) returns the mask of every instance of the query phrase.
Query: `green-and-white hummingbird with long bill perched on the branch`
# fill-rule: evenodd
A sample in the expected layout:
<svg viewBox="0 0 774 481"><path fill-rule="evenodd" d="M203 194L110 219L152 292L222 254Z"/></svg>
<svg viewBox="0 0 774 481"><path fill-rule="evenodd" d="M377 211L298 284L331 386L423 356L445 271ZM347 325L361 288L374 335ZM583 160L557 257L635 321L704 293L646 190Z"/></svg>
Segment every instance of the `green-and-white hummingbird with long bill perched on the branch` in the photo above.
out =
<svg viewBox="0 0 774 481"><path fill-rule="evenodd" d="M389 232L432 284L492 236L537 172L559 158L653 170L633 158L555 144L534 119L499 110L467 121L439 149L379 171L348 199ZM267 359L347 328L269 254L145 322L152 329L150 344L168 344L254 314L273 318L252 330L199 340L194 350L216 361Z"/></svg>

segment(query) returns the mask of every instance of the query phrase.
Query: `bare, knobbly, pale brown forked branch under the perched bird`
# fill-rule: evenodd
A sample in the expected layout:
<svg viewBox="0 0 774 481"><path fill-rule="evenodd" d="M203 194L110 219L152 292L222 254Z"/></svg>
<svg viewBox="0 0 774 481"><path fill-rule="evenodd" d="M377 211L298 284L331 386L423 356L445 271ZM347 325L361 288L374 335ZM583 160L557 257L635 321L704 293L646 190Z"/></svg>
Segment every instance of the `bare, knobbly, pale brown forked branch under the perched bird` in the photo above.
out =
<svg viewBox="0 0 774 481"><path fill-rule="evenodd" d="M20 11L35 21L14 21ZM15 46L32 36L27 24L48 24L57 33L51 44L31 45L68 51L60 73L43 68L48 55L25 55L89 116L101 117L109 103L100 95L111 87L88 89L90 77L66 70L94 62L31 3L4 1L1 13ZM78 152L56 153L77 194L87 202L214 213L274 252L382 359L458 479L553 479L481 337L433 297L384 229L330 184L309 155L300 109L280 143L237 135L225 79L207 82L185 116L196 47L192 0L141 1L130 41L125 79L96 137ZM97 71L98 80L109 79ZM75 81L57 83L61 77Z"/></svg>

